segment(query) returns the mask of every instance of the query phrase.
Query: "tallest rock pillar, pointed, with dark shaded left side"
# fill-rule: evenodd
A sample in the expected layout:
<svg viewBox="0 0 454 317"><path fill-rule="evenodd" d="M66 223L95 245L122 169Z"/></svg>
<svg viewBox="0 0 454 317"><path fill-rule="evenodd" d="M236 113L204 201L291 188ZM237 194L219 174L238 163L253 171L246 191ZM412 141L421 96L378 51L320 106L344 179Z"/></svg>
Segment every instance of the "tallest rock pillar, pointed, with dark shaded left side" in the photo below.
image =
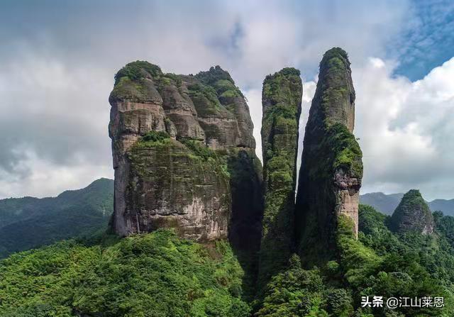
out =
<svg viewBox="0 0 454 317"><path fill-rule="evenodd" d="M352 134L354 122L350 62L344 50L332 48L320 63L299 172L296 234L309 262L333 252L338 216L353 219L358 235L362 152Z"/></svg>

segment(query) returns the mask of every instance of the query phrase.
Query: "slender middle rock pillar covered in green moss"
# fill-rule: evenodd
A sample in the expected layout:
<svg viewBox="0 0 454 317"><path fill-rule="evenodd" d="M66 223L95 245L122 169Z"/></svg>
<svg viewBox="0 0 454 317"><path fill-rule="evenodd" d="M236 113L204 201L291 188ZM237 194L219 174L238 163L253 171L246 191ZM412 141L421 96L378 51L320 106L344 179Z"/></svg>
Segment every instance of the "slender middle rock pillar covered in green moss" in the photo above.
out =
<svg viewBox="0 0 454 317"><path fill-rule="evenodd" d="M292 252L302 84L299 70L268 75L262 90L265 210L259 284L285 267Z"/></svg>

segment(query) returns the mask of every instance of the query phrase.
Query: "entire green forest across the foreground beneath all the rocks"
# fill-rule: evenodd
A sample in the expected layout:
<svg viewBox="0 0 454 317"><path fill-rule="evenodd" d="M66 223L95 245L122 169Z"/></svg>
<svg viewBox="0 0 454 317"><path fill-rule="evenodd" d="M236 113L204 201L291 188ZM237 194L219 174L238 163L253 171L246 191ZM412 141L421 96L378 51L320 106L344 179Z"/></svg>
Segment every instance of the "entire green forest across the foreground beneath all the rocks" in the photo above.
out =
<svg viewBox="0 0 454 317"><path fill-rule="evenodd" d="M389 216L361 205L359 240L348 220L338 229L341 260L307 269L294 255L256 298L223 240L161 229L62 241L0 262L0 316L451 316L454 218L433 218L433 235L397 234ZM444 307L360 308L372 295L438 296Z"/></svg>

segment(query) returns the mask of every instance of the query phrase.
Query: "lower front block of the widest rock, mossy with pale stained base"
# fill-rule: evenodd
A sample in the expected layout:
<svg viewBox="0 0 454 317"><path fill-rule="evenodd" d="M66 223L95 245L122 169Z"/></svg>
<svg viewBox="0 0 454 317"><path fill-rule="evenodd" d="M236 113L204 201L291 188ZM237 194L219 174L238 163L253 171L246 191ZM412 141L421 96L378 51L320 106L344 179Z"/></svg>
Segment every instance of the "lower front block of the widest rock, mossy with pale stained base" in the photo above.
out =
<svg viewBox="0 0 454 317"><path fill-rule="evenodd" d="M196 140L145 135L128 150L126 223L133 233L175 228L185 238L226 238L231 193L226 167Z"/></svg>

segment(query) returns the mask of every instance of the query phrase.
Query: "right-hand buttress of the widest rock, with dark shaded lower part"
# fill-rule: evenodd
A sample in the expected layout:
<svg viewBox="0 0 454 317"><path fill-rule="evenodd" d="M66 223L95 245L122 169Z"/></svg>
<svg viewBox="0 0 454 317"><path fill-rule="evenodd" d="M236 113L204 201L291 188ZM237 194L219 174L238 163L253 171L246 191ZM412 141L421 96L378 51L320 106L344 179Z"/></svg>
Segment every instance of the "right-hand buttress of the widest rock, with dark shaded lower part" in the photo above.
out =
<svg viewBox="0 0 454 317"><path fill-rule="evenodd" d="M204 128L206 144L223 157L230 174L231 226L229 240L234 250L255 255L260 248L263 215L262 165L255 155L253 121L249 107L230 74L221 67L199 72L195 78L209 87L218 99L218 111L211 111L203 102L197 107L199 122Z"/></svg>

